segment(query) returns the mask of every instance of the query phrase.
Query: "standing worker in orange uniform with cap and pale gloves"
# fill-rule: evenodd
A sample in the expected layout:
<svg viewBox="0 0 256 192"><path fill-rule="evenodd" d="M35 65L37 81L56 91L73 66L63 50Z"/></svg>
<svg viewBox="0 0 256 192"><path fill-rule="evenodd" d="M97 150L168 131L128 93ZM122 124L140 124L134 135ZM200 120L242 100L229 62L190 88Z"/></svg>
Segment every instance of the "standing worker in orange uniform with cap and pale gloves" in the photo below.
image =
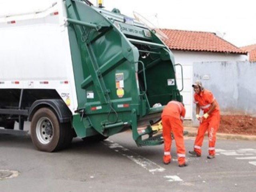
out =
<svg viewBox="0 0 256 192"><path fill-rule="evenodd" d="M196 81L192 87L194 88L194 102L196 103L196 118L200 121L196 140L194 143L194 151L189 151L190 154L200 157L202 154L202 143L204 134L208 131L209 138L209 155L208 159L215 157L215 142L216 132L220 124L220 109L219 105L213 96L212 92L204 89L200 81ZM203 116L199 115L200 109L204 112Z"/></svg>

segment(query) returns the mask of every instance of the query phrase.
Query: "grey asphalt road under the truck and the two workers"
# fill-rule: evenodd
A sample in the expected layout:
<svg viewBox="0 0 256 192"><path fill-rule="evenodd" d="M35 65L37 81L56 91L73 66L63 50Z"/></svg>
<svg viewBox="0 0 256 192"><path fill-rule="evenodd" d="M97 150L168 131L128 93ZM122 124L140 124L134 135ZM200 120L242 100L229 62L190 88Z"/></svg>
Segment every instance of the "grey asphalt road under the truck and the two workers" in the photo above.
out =
<svg viewBox="0 0 256 192"><path fill-rule="evenodd" d="M137 147L130 132L99 143L79 138L60 152L36 150L29 136L0 135L0 170L18 176L0 180L1 192L254 192L255 141L217 140L216 158L208 160L208 140L201 157L188 150L188 166L178 167L173 142L170 164L162 163L163 145Z"/></svg>

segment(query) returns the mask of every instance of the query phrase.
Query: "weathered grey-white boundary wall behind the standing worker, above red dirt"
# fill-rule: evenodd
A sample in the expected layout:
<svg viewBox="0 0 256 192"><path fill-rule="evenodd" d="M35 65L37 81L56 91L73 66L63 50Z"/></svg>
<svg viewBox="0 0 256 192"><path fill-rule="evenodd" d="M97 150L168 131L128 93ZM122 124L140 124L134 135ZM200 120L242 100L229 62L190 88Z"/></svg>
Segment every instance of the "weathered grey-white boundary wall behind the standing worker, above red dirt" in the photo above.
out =
<svg viewBox="0 0 256 192"><path fill-rule="evenodd" d="M256 116L256 62L197 62L193 66L193 79L201 80L214 94L221 114Z"/></svg>

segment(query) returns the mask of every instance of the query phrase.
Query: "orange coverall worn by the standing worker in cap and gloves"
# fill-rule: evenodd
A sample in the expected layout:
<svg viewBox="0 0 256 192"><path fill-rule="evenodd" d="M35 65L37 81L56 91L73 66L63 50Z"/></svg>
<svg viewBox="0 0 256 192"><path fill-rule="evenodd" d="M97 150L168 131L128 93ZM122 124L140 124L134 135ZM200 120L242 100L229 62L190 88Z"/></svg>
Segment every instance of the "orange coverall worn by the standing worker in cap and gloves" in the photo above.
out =
<svg viewBox="0 0 256 192"><path fill-rule="evenodd" d="M204 114L208 112L210 109L210 104L214 102L214 100L216 101L212 92L206 89L201 91L199 95L196 93L194 94L194 103L199 104L200 108L204 111ZM194 143L194 151L198 155L201 155L202 153L201 147L204 140L204 134L207 130L209 138L208 152L209 155L215 155L216 132L220 124L220 108L217 101L216 105L216 108L212 111L211 114L209 114L208 118L203 119L198 127L198 132Z"/></svg>

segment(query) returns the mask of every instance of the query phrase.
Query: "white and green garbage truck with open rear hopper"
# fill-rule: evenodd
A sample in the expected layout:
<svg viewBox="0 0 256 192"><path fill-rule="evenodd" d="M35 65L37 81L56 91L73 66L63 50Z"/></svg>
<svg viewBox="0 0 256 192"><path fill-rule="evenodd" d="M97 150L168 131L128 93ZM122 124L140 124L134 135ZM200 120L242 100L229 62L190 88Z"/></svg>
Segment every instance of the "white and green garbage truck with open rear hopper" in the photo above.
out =
<svg viewBox="0 0 256 192"><path fill-rule="evenodd" d="M163 143L152 125L182 96L155 29L87 0L1 4L1 134L30 131L45 152L126 130L138 146Z"/></svg>

